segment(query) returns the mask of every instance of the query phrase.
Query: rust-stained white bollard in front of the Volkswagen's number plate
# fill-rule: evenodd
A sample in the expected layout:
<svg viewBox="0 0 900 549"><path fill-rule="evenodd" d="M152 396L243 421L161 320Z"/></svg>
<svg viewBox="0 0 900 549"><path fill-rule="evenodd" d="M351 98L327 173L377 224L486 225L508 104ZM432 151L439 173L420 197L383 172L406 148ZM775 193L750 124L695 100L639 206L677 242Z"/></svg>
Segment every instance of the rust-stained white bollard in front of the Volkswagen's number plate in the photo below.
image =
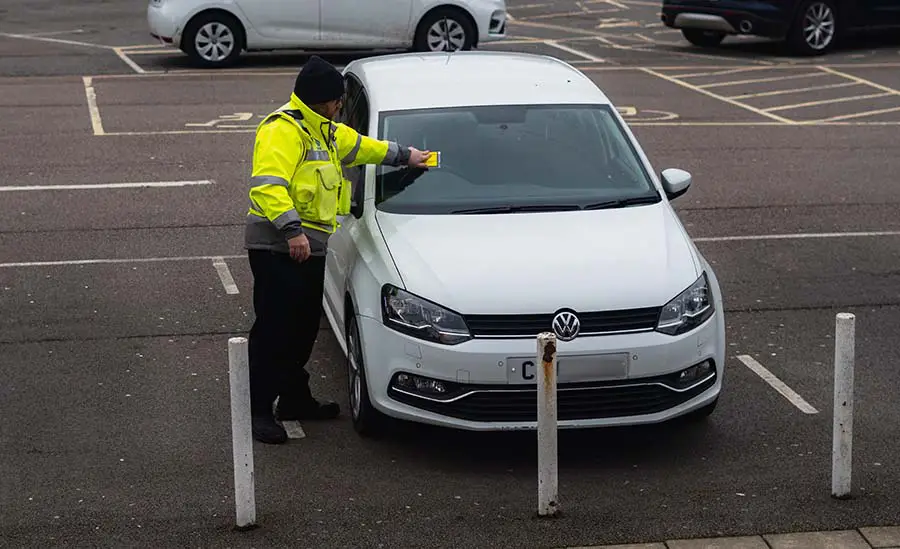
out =
<svg viewBox="0 0 900 549"><path fill-rule="evenodd" d="M538 375L538 515L553 516L559 510L556 421L556 336L544 332L537 338Z"/></svg>

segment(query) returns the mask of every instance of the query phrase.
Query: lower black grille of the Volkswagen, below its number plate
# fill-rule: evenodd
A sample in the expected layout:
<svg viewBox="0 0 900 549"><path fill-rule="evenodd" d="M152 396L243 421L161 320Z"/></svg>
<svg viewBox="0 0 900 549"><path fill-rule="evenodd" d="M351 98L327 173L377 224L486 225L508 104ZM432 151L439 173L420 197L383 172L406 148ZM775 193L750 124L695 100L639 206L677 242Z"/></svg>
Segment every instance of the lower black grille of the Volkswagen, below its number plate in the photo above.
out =
<svg viewBox="0 0 900 549"><path fill-rule="evenodd" d="M689 391L678 392L648 383L560 384L557 418L560 421L639 416L663 412L683 404L715 384L715 374ZM461 388L462 389L462 388ZM490 391L490 392L489 392ZM388 390L391 398L443 416L468 421L537 421L537 389L480 386L452 402L435 402Z"/></svg>

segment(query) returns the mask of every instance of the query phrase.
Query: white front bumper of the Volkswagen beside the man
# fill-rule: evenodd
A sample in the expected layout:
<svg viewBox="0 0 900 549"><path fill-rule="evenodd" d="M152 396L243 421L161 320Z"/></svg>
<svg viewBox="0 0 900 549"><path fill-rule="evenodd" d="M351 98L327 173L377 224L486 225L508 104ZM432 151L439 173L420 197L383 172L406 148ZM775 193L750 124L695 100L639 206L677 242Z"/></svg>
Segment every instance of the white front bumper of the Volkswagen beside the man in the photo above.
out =
<svg viewBox="0 0 900 549"><path fill-rule="evenodd" d="M581 379L557 386L562 429L658 423L703 407L721 391L724 343L719 315L681 336L657 332L582 337L559 343L559 359L627 352L626 377ZM401 420L475 431L533 430L537 386L512 382L508 357L533 357L534 339L476 339L435 345L397 333L379 319L360 318L370 399L376 409ZM712 371L677 386L678 372L709 361ZM412 374L440 380L445 395L428 395L397 385Z"/></svg>

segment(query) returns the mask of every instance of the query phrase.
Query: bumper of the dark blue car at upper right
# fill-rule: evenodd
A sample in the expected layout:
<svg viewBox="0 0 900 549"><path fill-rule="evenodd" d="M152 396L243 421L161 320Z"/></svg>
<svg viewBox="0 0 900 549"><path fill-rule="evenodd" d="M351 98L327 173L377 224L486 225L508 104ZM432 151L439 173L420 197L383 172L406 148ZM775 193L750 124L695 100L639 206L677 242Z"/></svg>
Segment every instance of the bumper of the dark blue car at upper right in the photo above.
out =
<svg viewBox="0 0 900 549"><path fill-rule="evenodd" d="M660 19L673 29L700 29L768 38L783 38L790 26L790 14L785 13L784 8L768 2L746 0L715 4L703 0L667 1L663 3Z"/></svg>

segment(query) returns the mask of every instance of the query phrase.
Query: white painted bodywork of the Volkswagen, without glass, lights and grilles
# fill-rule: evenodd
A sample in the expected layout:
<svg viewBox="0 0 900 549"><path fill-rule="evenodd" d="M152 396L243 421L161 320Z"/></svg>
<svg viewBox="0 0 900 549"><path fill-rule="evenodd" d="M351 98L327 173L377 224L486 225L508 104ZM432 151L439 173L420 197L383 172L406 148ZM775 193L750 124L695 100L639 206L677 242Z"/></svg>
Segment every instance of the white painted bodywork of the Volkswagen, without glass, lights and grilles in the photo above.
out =
<svg viewBox="0 0 900 549"><path fill-rule="evenodd" d="M504 70L497 74L496 67ZM354 61L370 104L369 135L385 110L511 103L610 102L573 67L550 58L506 53L398 55ZM416 74L415 89L397 86ZM455 82L453 93L443 91ZM615 113L615 111L613 111ZM653 184L664 193L634 135L615 113ZM657 331L580 336L560 341L561 361L578 355L625 353L623 382L672 374L701 361L715 380L701 393L654 413L561 419L560 428L666 421L713 403L721 391L725 321L718 279L690 240L668 200L599 211L490 215L400 215L378 211L374 167L365 169L363 213L343 219L326 260L325 314L347 352L348 313L357 319L369 398L381 413L402 420L469 430L534 429L535 421L472 421L411 406L390 396L398 372L437 380L510 389L510 359L536 354L532 337L484 337L456 345L418 339L382 321L381 289L403 288L463 315L605 311L661 307L701 273L709 279L715 313L681 335ZM663 196L665 196L663 194ZM345 301L346 296L352 300ZM549 330L549 327L548 327ZM534 390L519 380L516 390ZM658 385L658 384L657 384Z"/></svg>

